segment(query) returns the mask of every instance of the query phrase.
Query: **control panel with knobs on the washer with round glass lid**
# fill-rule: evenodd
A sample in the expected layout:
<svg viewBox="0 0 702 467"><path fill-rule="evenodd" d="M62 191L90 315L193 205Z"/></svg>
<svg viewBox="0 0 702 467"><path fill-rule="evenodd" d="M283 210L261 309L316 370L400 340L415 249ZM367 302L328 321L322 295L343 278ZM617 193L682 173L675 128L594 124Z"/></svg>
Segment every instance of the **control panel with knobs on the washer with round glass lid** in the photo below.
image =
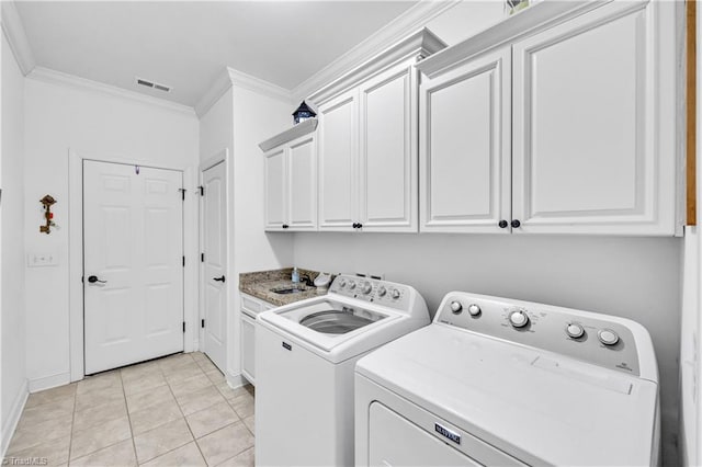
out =
<svg viewBox="0 0 702 467"><path fill-rule="evenodd" d="M375 303L398 310L410 307L410 287L371 277L340 274L329 287L330 294L339 294Z"/></svg>

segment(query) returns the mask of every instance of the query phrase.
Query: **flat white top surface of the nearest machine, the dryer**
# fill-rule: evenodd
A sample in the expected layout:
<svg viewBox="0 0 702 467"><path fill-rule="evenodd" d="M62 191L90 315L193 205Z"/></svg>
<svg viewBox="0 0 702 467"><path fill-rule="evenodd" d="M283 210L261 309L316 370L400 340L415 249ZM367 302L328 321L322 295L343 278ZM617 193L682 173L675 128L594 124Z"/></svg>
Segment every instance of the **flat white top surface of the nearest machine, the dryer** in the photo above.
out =
<svg viewBox="0 0 702 467"><path fill-rule="evenodd" d="M528 464L652 462L658 387L646 379L443 324L356 373Z"/></svg>

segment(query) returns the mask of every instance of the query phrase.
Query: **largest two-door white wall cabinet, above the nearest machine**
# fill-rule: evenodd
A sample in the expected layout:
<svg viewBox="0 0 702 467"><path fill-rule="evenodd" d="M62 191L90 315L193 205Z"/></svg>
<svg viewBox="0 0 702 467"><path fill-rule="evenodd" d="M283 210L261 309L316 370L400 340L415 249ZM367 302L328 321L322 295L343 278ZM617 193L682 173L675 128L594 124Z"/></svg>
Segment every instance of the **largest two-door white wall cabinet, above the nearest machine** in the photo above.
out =
<svg viewBox="0 0 702 467"><path fill-rule="evenodd" d="M420 64L420 229L680 234L676 8L609 2Z"/></svg>

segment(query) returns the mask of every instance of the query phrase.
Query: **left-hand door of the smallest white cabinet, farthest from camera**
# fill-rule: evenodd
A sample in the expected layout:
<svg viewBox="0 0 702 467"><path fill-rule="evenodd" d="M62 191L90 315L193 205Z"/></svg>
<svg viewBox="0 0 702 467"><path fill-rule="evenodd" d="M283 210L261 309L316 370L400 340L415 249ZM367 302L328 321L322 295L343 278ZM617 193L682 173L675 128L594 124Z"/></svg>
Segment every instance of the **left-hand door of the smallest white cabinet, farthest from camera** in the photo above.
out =
<svg viewBox="0 0 702 467"><path fill-rule="evenodd" d="M265 230L281 230L287 220L285 159L284 147L265 155Z"/></svg>

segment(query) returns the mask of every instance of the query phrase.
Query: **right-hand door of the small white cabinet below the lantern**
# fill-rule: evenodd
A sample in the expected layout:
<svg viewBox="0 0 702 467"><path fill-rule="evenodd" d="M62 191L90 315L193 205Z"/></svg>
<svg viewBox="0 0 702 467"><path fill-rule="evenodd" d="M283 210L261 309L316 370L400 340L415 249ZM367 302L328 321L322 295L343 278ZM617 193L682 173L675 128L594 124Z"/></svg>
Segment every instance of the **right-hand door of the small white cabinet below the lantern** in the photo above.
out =
<svg viewBox="0 0 702 467"><path fill-rule="evenodd" d="M308 135L287 148L290 230L317 229L317 148Z"/></svg>

